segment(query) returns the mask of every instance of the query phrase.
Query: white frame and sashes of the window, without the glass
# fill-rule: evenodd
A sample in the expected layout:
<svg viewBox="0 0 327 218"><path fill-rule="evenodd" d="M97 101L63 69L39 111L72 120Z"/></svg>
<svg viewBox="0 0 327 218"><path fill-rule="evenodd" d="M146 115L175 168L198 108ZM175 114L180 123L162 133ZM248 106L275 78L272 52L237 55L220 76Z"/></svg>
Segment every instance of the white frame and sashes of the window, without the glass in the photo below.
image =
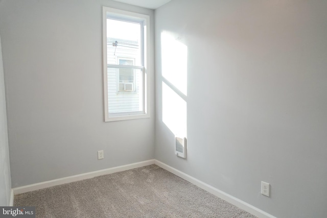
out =
<svg viewBox="0 0 327 218"><path fill-rule="evenodd" d="M143 28L144 28L144 54L143 56L143 66L124 66L124 65L108 65L107 64L107 12L110 15L120 16L128 19L134 20L142 20L143 21ZM147 61L147 56L150 54L150 16L145 14L139 14L124 10L119 10L115 8L103 7L103 78L104 78L104 118L105 122L112 122L118 120L129 120L129 119L139 119L139 118L149 118L150 117L150 79L148 70L149 69L149 62ZM118 68L137 68L143 70L143 108L142 112L123 112L123 113L109 113L108 111L108 82L107 82L107 68L109 67L118 67Z"/></svg>

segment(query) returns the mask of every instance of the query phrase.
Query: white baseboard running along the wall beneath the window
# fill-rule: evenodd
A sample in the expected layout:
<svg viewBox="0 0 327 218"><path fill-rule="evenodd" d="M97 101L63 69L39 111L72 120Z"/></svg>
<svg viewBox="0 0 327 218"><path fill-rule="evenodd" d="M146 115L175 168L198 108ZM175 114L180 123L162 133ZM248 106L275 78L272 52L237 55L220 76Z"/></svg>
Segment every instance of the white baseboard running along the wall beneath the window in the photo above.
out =
<svg viewBox="0 0 327 218"><path fill-rule="evenodd" d="M106 174L127 171L128 169L133 169L133 168L138 168L138 167L154 164L154 161L155 161L154 159L146 160L146 161L127 164L127 165L123 165L123 166L116 166L116 167L112 167L112 168L101 169L100 171L94 171L94 172L90 172L90 173L79 174L79 175L64 177L64 178L60 178L60 179L39 182L39 183L31 184L31 185L25 185L25 186L13 188L13 194L18 195L21 193L35 191L35 190L39 190L42 188L49 188L49 187L55 186L55 185L62 185L62 184L69 183L69 182L80 181L83 179L90 179L90 178L93 178L96 176L102 176L102 175L106 175Z"/></svg>

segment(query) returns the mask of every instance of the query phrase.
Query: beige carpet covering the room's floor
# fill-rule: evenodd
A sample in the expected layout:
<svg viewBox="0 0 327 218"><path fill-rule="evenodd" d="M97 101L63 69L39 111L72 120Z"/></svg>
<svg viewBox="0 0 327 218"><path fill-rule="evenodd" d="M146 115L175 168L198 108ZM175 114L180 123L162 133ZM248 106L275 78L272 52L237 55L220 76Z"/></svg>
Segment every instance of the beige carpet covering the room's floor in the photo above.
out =
<svg viewBox="0 0 327 218"><path fill-rule="evenodd" d="M16 195L36 217L255 217L157 165Z"/></svg>

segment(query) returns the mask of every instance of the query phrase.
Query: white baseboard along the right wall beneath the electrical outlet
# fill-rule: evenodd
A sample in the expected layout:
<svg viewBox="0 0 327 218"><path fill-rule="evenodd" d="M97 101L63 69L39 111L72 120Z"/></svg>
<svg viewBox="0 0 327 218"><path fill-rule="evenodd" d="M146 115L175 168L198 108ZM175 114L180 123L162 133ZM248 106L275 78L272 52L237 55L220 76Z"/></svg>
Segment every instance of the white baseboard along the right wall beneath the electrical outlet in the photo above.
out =
<svg viewBox="0 0 327 218"><path fill-rule="evenodd" d="M175 169L169 165L167 165L166 163L162 163L161 161L158 161L158 160L155 160L154 163L158 166L160 166L161 168L164 168L166 169L167 171L171 172L172 174L175 174L176 176L179 176L180 178L186 180L186 181L189 181L191 183L193 183L194 185L212 193L213 195L217 196L218 198L221 198L257 217L260 217L260 218L276 218L275 216L259 209L259 208L256 208L238 198L235 198L231 195L228 195L226 192L223 192L211 185L208 185L188 174L185 174L181 171L179 171L178 169Z"/></svg>

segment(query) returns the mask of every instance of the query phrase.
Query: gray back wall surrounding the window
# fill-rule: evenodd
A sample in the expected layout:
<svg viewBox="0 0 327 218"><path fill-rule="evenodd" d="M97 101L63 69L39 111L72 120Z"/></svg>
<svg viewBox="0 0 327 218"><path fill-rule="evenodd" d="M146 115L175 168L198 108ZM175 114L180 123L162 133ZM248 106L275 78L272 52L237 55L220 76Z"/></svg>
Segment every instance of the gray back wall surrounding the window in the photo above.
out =
<svg viewBox="0 0 327 218"><path fill-rule="evenodd" d="M1 3L13 187L154 158L154 86L151 118L104 122L102 6L154 23L153 10L113 1Z"/></svg>

